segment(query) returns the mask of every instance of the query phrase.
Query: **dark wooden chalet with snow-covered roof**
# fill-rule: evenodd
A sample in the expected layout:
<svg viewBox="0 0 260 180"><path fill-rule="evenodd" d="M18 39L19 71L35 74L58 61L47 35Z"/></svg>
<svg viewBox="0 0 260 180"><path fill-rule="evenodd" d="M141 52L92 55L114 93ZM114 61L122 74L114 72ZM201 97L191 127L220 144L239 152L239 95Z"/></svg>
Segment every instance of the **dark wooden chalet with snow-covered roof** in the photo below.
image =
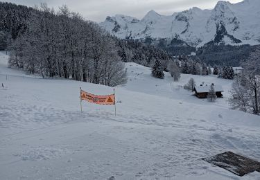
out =
<svg viewBox="0 0 260 180"><path fill-rule="evenodd" d="M213 84L214 85L214 84ZM195 95L198 98L207 98L207 94L209 93L210 85L198 86L194 87L193 91L195 91ZM214 89L216 92L216 96L218 98L223 98L223 88L219 85L214 85Z"/></svg>

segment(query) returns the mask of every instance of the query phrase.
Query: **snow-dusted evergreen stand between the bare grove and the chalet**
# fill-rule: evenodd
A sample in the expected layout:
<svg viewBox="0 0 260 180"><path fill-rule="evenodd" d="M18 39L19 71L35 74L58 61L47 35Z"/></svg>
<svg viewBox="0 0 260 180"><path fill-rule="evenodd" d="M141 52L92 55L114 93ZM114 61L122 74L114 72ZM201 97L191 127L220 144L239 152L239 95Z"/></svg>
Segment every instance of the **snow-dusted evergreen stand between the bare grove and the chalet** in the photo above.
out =
<svg viewBox="0 0 260 180"><path fill-rule="evenodd" d="M117 46L119 46L119 56L123 62L136 62L144 66L154 67L155 64L158 64L156 61L159 60L159 69L169 71L175 80L178 79L177 77L180 76L180 73L195 75L211 74L211 67L202 63L199 59L192 60L191 57L186 55L174 57L171 53L146 44L142 40L117 39ZM176 64L177 67L173 66L173 64ZM162 74L162 72L159 74ZM162 78L162 75L159 75L158 78Z"/></svg>

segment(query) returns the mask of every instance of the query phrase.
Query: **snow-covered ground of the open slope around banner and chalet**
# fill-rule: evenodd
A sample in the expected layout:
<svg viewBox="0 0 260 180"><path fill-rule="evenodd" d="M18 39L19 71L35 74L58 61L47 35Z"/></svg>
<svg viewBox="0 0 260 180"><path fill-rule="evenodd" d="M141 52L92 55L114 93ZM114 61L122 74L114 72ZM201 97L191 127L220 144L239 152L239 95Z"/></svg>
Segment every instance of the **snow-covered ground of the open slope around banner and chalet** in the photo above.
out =
<svg viewBox="0 0 260 180"><path fill-rule="evenodd" d="M232 151L260 161L260 117L228 109L231 80L173 82L168 73L158 80L128 63L128 84L115 89L116 116L114 106L87 102L80 113L80 87L101 95L112 88L26 75L7 60L1 52L0 179L260 179L201 160ZM192 96L182 88L191 77L222 84L224 98Z"/></svg>

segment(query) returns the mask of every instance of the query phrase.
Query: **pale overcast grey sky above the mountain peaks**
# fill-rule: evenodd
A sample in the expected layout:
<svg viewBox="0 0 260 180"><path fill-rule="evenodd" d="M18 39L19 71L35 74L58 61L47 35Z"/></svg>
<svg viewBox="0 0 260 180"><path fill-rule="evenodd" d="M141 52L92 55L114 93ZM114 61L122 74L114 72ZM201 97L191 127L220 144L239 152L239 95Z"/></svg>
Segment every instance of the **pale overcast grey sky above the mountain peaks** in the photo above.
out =
<svg viewBox="0 0 260 180"><path fill-rule="evenodd" d="M187 10L192 7L212 9L218 0L3 0L26 6L39 5L45 2L48 6L58 9L67 5L71 11L79 12L85 19L105 21L105 17L114 15L130 15L141 19L150 10L161 15L172 15L173 12ZM229 0L237 3L242 0Z"/></svg>

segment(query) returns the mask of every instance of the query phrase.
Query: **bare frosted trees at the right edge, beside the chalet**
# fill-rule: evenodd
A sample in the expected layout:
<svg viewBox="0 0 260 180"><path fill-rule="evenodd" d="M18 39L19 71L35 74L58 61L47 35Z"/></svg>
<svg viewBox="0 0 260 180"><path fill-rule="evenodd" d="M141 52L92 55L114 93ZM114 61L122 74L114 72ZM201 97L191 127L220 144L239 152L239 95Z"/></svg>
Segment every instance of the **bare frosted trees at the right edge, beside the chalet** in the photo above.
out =
<svg viewBox="0 0 260 180"><path fill-rule="evenodd" d="M244 71L232 84L232 109L240 109L252 114L260 114L260 47L250 54L242 64Z"/></svg>

